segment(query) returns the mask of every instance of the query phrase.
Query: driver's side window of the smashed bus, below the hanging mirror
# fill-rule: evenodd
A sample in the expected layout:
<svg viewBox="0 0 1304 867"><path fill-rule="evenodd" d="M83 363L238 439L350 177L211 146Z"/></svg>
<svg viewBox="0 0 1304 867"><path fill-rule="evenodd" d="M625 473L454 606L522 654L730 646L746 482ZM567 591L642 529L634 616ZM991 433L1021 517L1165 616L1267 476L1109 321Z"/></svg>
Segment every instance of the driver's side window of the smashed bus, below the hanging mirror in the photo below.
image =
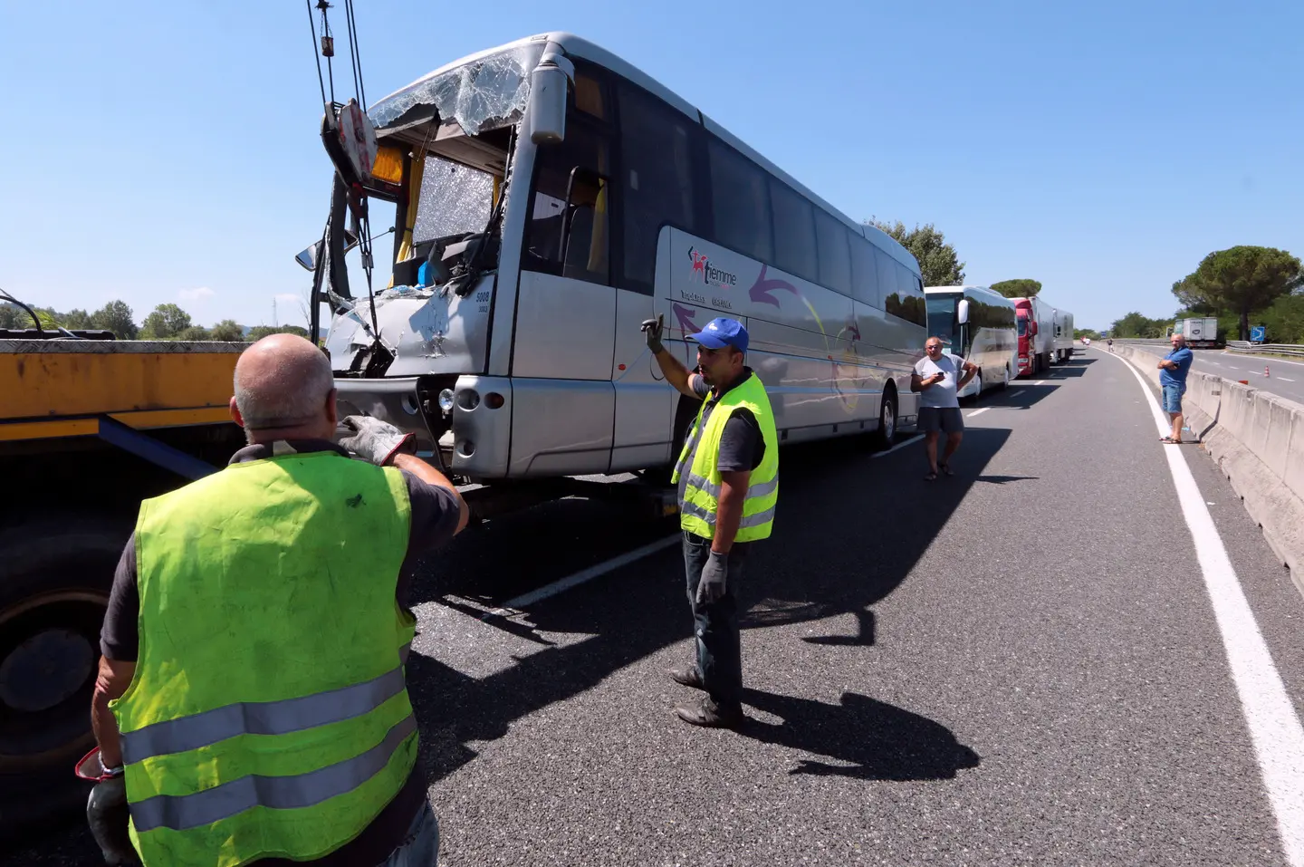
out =
<svg viewBox="0 0 1304 867"><path fill-rule="evenodd" d="M600 94L596 83L576 85L583 113L576 110L572 96L566 140L541 146L535 156L522 257L522 267L527 271L609 283L612 156L602 124L588 117L602 111ZM600 179L596 189L595 176ZM563 237L567 190L571 194L570 232Z"/></svg>

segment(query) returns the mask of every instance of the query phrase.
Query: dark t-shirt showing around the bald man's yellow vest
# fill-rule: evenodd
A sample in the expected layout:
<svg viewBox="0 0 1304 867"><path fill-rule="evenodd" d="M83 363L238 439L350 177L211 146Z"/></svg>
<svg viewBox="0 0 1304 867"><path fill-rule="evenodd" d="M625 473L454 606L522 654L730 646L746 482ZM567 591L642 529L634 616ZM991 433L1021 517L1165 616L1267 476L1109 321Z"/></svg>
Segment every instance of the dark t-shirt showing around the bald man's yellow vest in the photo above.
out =
<svg viewBox="0 0 1304 867"><path fill-rule="evenodd" d="M334 451L348 459L348 452L335 443L322 441L295 441L276 443L288 446L299 454ZM278 448L283 454L283 448ZM263 460L273 455L271 446L246 446L232 458L232 464L248 460ZM458 529L460 507L456 498L446 489L428 485L416 476L404 472L408 499L412 502L412 528L408 533L408 548L399 568L395 598L404 609L408 608L408 589L412 584L412 568L422 554L438 548ZM100 652L117 662L134 662L140 643L141 596L136 572L136 535L126 542L123 557L113 575L113 589L108 597L108 611L99 634ZM288 860L284 858L263 858L250 862L258 867L370 867L379 864L394 851L412 824L412 817L425 801L425 778L419 773L420 763L412 768L403 789L386 804L385 810L368 825L361 834L344 844L325 858L317 860Z"/></svg>

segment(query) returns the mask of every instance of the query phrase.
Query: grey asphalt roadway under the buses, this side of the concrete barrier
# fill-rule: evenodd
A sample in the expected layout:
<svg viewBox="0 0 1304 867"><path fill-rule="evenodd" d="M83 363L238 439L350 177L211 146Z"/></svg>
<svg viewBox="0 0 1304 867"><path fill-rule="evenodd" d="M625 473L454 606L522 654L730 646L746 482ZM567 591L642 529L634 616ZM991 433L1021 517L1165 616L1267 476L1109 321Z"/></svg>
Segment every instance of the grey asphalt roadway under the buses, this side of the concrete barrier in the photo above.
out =
<svg viewBox="0 0 1304 867"><path fill-rule="evenodd" d="M1304 601L1146 391L1080 352L968 405L934 482L918 442L785 450L741 733L672 716L673 544L481 617L673 525L563 501L455 540L408 670L441 863L1304 864ZM72 823L0 860L94 858Z"/></svg>

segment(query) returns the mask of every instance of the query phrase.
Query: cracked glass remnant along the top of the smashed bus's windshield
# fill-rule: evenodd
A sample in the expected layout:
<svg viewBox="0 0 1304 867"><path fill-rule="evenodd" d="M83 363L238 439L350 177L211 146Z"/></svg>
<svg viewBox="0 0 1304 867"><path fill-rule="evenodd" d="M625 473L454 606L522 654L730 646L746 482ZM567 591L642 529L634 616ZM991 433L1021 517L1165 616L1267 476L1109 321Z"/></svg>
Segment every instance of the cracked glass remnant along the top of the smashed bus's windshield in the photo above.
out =
<svg viewBox="0 0 1304 867"><path fill-rule="evenodd" d="M455 120L468 136L520 120L529 98L529 73L544 43L531 43L432 74L372 106L378 130L400 126L421 108L434 107L443 121Z"/></svg>

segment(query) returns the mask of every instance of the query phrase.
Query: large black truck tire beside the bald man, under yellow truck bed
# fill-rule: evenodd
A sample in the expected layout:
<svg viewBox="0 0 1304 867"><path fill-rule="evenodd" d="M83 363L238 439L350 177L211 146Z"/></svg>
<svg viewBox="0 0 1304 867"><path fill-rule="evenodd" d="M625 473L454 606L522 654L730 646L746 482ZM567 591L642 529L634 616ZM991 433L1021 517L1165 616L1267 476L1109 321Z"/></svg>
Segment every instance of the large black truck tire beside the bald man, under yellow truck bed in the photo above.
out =
<svg viewBox="0 0 1304 867"><path fill-rule="evenodd" d="M80 518L0 532L0 836L81 806L90 700L129 527Z"/></svg>

